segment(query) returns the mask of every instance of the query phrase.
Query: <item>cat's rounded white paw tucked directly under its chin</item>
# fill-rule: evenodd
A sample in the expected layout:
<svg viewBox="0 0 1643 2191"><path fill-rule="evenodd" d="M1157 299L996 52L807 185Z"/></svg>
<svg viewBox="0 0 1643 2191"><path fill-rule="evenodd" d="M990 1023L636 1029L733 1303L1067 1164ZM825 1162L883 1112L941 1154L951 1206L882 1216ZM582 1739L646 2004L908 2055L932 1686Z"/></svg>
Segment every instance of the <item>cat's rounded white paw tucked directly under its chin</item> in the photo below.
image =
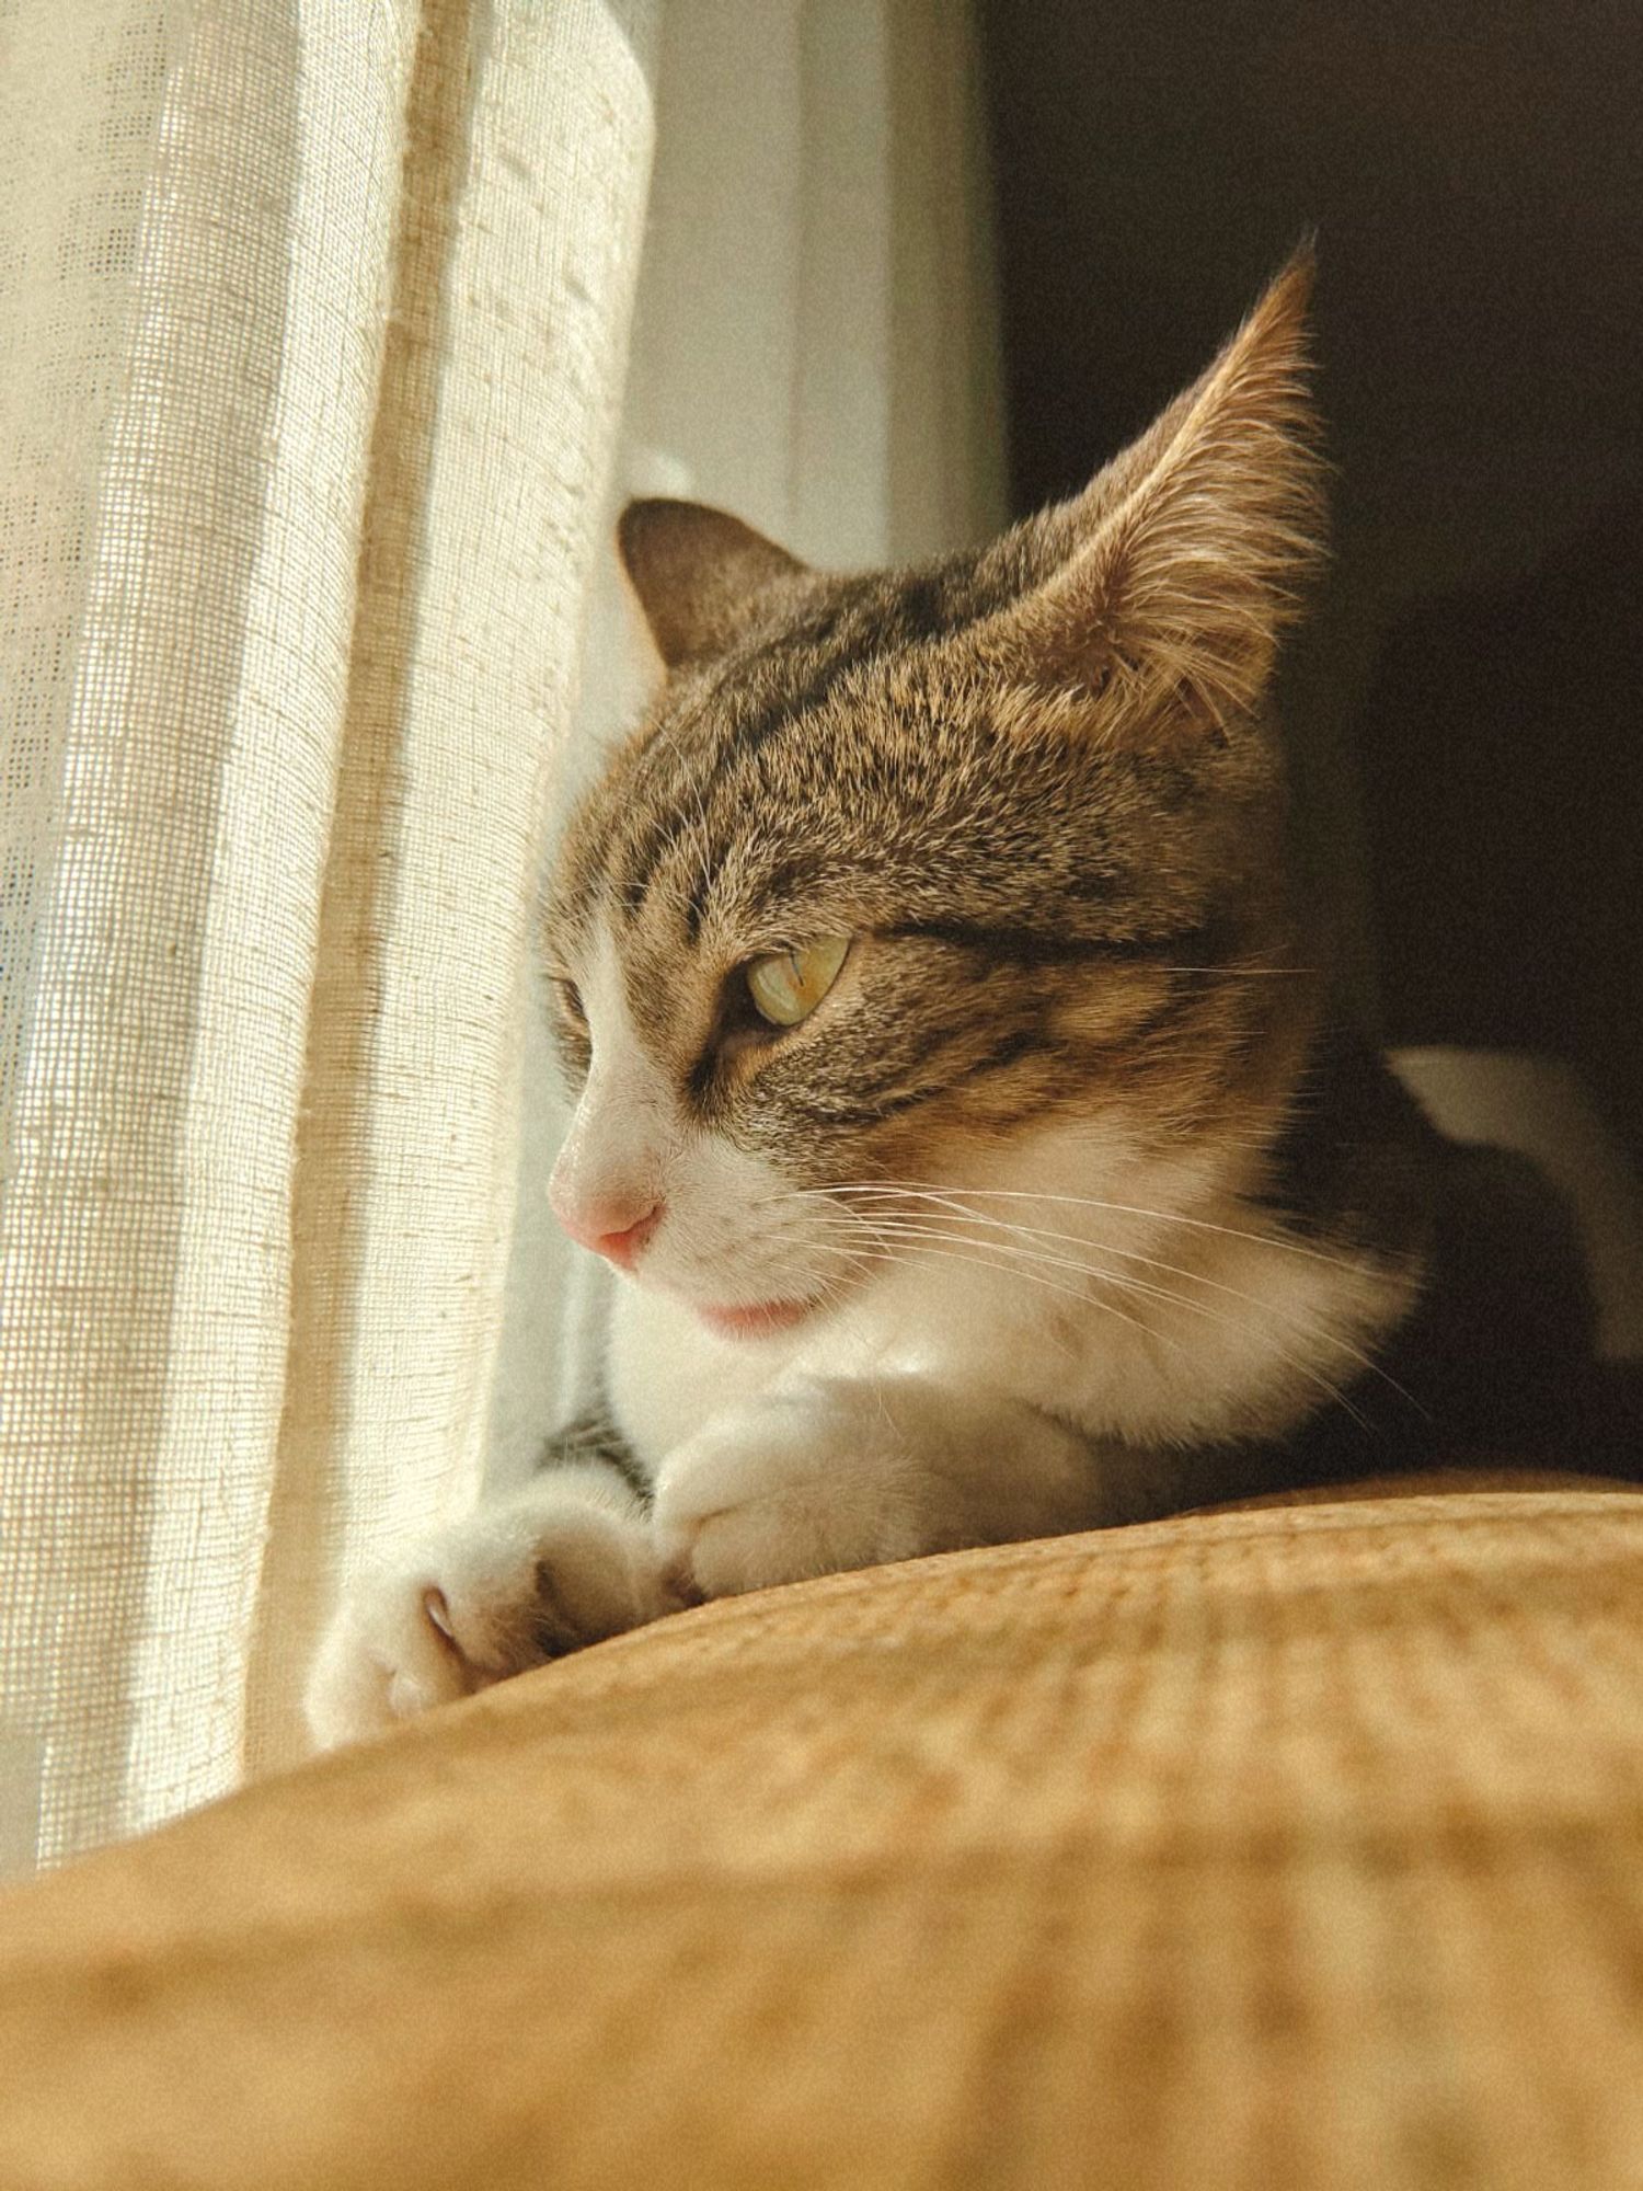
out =
<svg viewBox="0 0 1643 2191"><path fill-rule="evenodd" d="M931 1479L870 1398L815 1380L710 1422L662 1466L655 1540L703 1597L935 1549Z"/></svg>

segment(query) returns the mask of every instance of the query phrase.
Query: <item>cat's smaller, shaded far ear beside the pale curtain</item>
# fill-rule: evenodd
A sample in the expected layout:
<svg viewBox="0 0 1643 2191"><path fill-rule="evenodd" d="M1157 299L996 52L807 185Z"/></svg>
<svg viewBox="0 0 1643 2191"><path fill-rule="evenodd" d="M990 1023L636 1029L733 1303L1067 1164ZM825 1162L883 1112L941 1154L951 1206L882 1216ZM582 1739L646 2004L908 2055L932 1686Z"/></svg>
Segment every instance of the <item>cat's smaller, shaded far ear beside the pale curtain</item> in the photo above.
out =
<svg viewBox="0 0 1643 2191"><path fill-rule="evenodd" d="M806 570L740 517L705 502L629 502L616 541L668 668L721 653L771 587Z"/></svg>

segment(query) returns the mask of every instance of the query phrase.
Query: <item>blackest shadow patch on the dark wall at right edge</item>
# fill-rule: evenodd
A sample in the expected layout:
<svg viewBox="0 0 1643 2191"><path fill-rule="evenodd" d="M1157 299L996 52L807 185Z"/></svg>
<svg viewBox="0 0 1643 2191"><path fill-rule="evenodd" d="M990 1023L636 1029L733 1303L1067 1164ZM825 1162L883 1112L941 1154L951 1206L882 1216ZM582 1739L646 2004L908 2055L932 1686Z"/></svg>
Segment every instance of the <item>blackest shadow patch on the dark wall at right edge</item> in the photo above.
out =
<svg viewBox="0 0 1643 2191"><path fill-rule="evenodd" d="M1415 603L1358 725L1393 1043L1573 1063L1643 1159L1643 506Z"/></svg>

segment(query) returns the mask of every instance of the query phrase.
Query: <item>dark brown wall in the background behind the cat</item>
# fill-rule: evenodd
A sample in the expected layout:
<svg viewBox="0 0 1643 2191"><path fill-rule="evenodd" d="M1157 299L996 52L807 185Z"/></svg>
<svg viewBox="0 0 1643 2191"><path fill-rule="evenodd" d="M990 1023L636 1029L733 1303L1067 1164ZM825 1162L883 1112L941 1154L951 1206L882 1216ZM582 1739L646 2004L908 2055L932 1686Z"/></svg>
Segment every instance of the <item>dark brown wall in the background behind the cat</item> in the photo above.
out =
<svg viewBox="0 0 1643 2191"><path fill-rule="evenodd" d="M1643 1155L1643 11L981 0L1012 482L1067 493L1317 228L1303 841L1393 1043L1564 1056Z"/></svg>

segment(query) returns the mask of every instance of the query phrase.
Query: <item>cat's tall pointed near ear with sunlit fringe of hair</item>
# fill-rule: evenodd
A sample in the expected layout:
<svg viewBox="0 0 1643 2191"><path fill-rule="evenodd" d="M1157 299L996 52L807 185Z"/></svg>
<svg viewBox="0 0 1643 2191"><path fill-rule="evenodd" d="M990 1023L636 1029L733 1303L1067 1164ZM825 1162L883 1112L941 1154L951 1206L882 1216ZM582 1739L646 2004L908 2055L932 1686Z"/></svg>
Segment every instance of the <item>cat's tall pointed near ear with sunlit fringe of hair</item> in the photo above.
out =
<svg viewBox="0 0 1643 2191"><path fill-rule="evenodd" d="M1266 692L1297 585L1321 554L1310 291L1308 250L1203 379L1054 513L1067 537L1058 567L977 629L1102 743L1214 732Z"/></svg>

